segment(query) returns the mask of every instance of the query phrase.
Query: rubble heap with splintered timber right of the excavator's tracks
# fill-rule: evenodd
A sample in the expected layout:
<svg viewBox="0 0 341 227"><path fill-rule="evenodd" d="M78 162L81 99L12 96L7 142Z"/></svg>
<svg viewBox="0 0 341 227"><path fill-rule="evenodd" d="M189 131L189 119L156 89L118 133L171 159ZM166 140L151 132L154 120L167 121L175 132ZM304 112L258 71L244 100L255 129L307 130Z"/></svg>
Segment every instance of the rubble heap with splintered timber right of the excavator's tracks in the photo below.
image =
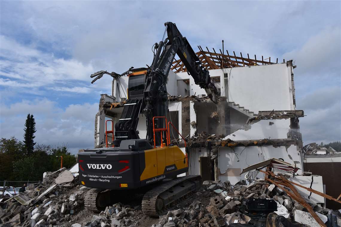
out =
<svg viewBox="0 0 341 227"><path fill-rule="evenodd" d="M274 199L278 209L275 213L278 215L283 215L291 222L319 226L302 205L266 180L256 179L250 185L241 180L234 186L229 181L204 181L203 186L191 206L169 211L153 227L223 227L232 223L245 224L250 217L241 213L239 208L249 198ZM341 222L339 212L325 209L311 200L308 203L323 222L327 222L328 215L335 215L338 222Z"/></svg>

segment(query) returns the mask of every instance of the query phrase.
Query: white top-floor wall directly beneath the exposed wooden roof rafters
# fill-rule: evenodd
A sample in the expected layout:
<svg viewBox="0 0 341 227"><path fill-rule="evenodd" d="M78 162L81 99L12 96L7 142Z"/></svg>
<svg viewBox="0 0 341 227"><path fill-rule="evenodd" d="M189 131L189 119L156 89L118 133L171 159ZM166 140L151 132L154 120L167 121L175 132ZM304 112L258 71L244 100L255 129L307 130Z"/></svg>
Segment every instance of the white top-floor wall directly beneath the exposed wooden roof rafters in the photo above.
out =
<svg viewBox="0 0 341 227"><path fill-rule="evenodd" d="M286 63L209 70L211 77L220 76L221 95L257 113L264 110L294 110L291 83L292 67ZM225 88L224 73L228 75ZM178 79L190 79L190 95L206 94L187 72ZM228 92L228 94L225 93Z"/></svg>

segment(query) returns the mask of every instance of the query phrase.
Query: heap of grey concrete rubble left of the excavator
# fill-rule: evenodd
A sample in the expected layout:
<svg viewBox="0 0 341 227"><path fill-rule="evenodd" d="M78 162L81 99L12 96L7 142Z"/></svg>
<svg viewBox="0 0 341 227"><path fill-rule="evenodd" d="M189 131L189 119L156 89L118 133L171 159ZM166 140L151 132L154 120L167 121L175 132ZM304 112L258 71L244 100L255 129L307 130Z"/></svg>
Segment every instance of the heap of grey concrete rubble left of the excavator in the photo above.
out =
<svg viewBox="0 0 341 227"><path fill-rule="evenodd" d="M87 190L65 168L46 173L42 183L26 188L24 193L1 200L1 227L71 226L72 215L84 206Z"/></svg>

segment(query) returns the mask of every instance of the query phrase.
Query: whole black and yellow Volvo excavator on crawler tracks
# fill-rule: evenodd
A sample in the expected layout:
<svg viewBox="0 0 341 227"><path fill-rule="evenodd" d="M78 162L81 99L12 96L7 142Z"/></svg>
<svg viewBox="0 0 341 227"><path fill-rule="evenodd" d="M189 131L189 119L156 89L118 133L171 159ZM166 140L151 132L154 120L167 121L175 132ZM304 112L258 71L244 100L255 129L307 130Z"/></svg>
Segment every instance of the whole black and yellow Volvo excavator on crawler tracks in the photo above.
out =
<svg viewBox="0 0 341 227"><path fill-rule="evenodd" d="M142 193L143 212L158 216L165 207L201 185L201 176L177 177L188 172L188 153L171 143L169 129L173 125L166 118L166 83L175 54L214 103L220 91L176 25L166 22L165 27L167 38L155 43L151 66L126 72L128 100L115 124L114 147L78 153L79 181L91 188L85 195L86 209L99 211L115 199ZM91 77L96 75L103 74ZM139 138L136 130L140 114L146 116L146 138Z"/></svg>

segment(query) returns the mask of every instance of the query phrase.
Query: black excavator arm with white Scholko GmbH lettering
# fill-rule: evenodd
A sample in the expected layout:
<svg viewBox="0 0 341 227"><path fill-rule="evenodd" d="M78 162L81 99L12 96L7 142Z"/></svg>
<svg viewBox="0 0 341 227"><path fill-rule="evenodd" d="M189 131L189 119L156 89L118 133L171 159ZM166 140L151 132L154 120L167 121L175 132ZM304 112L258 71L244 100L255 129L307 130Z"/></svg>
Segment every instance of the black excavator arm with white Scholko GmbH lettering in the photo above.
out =
<svg viewBox="0 0 341 227"><path fill-rule="evenodd" d="M175 54L180 57L186 66L187 72L193 77L195 84L204 88L208 97L214 103L218 102L218 97L220 96L220 91L211 81L208 70L203 68L186 37L181 35L174 23L166 22L165 26L168 38L166 38L164 42L160 41L158 45L155 45L157 52L154 56L150 73L148 73L146 78L144 91L144 99L146 102L144 113L147 118L147 139L150 142L153 140L152 118L156 116L165 116L166 114L166 83ZM164 119L157 119L154 127L165 128ZM165 135L163 135L163 137L165 139ZM160 135L157 135L155 140L157 144L160 144Z"/></svg>

